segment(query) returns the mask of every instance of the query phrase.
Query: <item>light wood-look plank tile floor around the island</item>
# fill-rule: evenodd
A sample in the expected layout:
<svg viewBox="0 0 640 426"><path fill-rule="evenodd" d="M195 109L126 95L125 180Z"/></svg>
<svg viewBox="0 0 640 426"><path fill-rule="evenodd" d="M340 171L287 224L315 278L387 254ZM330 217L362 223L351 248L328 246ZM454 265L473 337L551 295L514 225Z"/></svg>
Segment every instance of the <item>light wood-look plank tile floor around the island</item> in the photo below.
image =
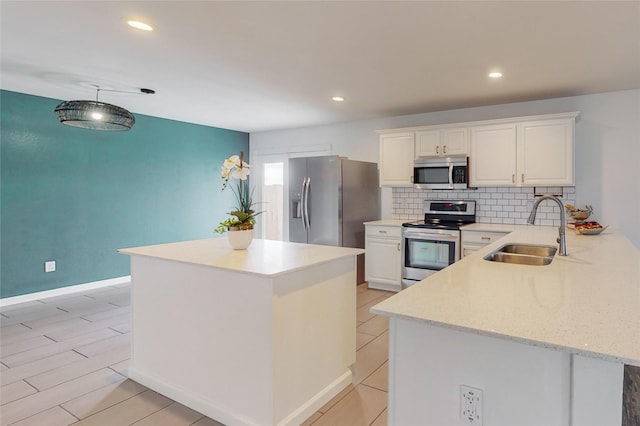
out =
<svg viewBox="0 0 640 426"><path fill-rule="evenodd" d="M369 308L393 293L357 289L353 381L304 425L387 424L388 320ZM214 426L127 379L130 286L0 310L0 426Z"/></svg>

